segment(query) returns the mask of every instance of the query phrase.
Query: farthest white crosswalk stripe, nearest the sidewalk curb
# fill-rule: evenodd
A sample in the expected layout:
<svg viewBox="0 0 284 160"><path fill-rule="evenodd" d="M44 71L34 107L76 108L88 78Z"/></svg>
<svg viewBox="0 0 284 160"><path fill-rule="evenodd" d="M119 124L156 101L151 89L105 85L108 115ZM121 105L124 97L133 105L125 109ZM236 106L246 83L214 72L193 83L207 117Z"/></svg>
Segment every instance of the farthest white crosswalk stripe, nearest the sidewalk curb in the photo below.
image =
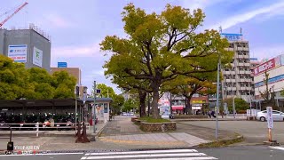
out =
<svg viewBox="0 0 284 160"><path fill-rule="evenodd" d="M195 150L195 149L145 150L145 151L131 151L131 152L91 153L91 154L85 154L85 156L152 154L152 153L179 153L179 152L197 152L197 150Z"/></svg>

